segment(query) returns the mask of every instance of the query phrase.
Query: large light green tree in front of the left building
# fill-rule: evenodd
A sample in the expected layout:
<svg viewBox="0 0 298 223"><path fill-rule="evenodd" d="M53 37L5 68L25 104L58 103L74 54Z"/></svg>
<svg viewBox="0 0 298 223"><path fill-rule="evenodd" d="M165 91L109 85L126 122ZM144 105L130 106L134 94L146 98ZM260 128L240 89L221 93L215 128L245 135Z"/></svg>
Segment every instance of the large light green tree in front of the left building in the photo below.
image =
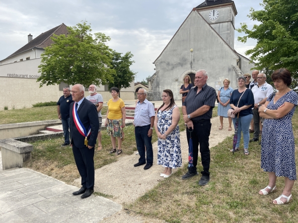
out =
<svg viewBox="0 0 298 223"><path fill-rule="evenodd" d="M68 27L68 35L52 37L54 44L45 49L38 66L40 87L61 82L104 85L113 80L112 50L106 45L110 38L103 33L92 35L90 32L90 25L82 21Z"/></svg>

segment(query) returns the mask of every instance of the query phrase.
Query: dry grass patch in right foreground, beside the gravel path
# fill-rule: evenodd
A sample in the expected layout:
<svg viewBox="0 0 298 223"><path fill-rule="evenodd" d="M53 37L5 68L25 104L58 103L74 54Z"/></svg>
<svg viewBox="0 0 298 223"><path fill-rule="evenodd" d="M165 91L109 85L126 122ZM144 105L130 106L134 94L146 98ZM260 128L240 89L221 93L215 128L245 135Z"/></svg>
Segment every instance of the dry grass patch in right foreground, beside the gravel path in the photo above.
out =
<svg viewBox="0 0 298 223"><path fill-rule="evenodd" d="M298 137L298 112L293 117L295 138ZM253 134L251 134L251 137ZM166 222L298 222L298 187L293 187L294 200L288 205L274 206L284 188L284 177L278 177L278 192L267 196L258 191L268 183L268 174L260 168L261 146L249 144L249 156L243 149L232 155L227 148L232 137L211 148L211 181L201 187L201 175L182 180L187 165L161 181L136 202L125 208ZM241 140L240 148L243 148ZM297 156L297 153L296 153ZM297 159L297 157L296 157ZM202 170L198 161L198 171Z"/></svg>

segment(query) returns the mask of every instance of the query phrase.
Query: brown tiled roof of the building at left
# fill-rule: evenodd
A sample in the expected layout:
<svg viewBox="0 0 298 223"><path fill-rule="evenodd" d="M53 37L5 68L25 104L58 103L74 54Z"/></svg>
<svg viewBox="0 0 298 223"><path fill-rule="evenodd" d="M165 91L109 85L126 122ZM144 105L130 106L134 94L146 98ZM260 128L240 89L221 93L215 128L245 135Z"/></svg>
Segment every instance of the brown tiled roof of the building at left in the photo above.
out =
<svg viewBox="0 0 298 223"><path fill-rule="evenodd" d="M12 55L7 56L5 59L8 59L12 56L21 54L25 51L31 50L33 48L42 48L45 49L48 46L51 46L54 42L51 40L51 37L53 34L61 35L61 34L68 34L67 26L62 23L59 26L56 26L55 28L52 28L42 34L40 34L38 37L31 40L29 43L27 43L22 48L18 49L16 52L14 52Z"/></svg>

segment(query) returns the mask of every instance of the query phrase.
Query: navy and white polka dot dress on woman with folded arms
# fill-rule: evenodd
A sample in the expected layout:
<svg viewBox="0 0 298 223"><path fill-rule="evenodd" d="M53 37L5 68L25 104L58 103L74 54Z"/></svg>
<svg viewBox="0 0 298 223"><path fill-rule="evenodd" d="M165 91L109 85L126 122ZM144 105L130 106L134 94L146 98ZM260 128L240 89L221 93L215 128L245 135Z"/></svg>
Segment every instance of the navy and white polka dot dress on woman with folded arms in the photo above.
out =
<svg viewBox="0 0 298 223"><path fill-rule="evenodd" d="M272 100L270 100L272 98ZM294 104L294 108L279 119L265 119L263 122L261 143L261 168L266 172L275 172L276 176L296 180L295 139L292 128L292 116L297 106L298 95L289 91L275 104L269 96L267 108L277 110L285 102Z"/></svg>

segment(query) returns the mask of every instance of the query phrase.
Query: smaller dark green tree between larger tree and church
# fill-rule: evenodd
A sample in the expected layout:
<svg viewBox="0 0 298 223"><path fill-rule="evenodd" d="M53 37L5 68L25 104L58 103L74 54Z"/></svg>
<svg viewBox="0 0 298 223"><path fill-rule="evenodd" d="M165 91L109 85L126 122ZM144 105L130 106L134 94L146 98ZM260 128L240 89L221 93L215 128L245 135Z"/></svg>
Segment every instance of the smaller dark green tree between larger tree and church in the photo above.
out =
<svg viewBox="0 0 298 223"><path fill-rule="evenodd" d="M109 82L109 88L117 87L119 90L131 86L131 82L135 80L136 73L130 69L130 66L135 62L131 60L134 56L131 52L127 52L124 56L122 53L113 51L111 67L116 71L113 81Z"/></svg>

